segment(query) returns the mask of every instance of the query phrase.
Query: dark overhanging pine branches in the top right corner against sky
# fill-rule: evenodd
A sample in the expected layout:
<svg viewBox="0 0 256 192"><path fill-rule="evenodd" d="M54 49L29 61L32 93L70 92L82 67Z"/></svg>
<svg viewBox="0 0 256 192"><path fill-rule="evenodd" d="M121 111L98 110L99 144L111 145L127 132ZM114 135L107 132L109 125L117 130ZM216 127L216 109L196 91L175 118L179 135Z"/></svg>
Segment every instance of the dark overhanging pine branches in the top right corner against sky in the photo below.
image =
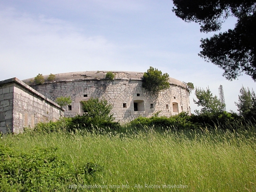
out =
<svg viewBox="0 0 256 192"><path fill-rule="evenodd" d="M186 22L200 24L201 32L217 31L229 16L236 17L234 29L201 39L199 56L236 79L245 73L256 81L256 0L173 0L173 11Z"/></svg>

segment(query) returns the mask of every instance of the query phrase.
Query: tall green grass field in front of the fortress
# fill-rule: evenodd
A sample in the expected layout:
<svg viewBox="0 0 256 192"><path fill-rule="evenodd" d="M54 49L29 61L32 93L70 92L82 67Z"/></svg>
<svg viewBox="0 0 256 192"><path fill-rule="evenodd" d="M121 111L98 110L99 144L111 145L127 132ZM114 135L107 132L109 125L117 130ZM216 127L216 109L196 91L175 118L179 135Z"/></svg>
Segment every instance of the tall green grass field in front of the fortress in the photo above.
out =
<svg viewBox="0 0 256 192"><path fill-rule="evenodd" d="M104 166L87 186L63 191L256 191L255 130L26 133L2 136L0 145L17 153L57 147L69 166Z"/></svg>

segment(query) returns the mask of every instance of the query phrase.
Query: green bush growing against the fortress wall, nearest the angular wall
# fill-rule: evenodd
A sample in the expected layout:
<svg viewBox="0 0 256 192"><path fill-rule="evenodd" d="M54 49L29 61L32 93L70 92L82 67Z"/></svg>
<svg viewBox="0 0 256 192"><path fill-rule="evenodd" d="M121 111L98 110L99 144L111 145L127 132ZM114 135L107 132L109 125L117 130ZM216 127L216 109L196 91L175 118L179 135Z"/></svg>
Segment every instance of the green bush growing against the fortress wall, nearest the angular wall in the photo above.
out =
<svg viewBox="0 0 256 192"><path fill-rule="evenodd" d="M107 121L114 120L113 114L110 114L113 106L107 100L99 100L98 98L90 98L87 101L82 101L83 110L87 112L85 116L93 118L94 121Z"/></svg>

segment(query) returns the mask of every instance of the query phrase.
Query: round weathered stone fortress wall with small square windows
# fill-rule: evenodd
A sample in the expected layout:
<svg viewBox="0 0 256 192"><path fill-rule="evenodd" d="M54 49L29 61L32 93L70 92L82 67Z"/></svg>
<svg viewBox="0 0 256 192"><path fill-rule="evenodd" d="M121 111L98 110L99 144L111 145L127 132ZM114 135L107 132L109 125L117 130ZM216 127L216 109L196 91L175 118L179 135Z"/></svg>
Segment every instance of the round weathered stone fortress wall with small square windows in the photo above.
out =
<svg viewBox="0 0 256 192"><path fill-rule="evenodd" d="M55 81L41 85L30 85L33 89L55 101L60 96L70 96L72 103L66 106L65 116L83 114L83 100L105 98L113 105L115 120L121 123L130 122L138 116L159 115L171 116L187 111L190 113L189 92L181 81L170 78L170 88L159 94L152 94L142 87L143 73L113 72L115 78L105 78L107 71L74 72L56 74ZM31 79L23 80L30 84Z"/></svg>

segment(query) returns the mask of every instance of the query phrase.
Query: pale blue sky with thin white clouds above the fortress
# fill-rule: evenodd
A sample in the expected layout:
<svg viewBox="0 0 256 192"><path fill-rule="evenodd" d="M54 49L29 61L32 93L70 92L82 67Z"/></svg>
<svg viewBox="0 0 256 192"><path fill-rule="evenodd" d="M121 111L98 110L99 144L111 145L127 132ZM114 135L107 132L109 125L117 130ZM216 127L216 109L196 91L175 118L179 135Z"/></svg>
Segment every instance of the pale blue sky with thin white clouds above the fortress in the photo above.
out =
<svg viewBox="0 0 256 192"><path fill-rule="evenodd" d="M246 75L228 81L201 59L200 39L214 33L200 33L172 7L171 0L0 0L0 80L153 66L217 96L223 85L226 109L236 111L241 86L256 90L256 83ZM221 31L235 22L229 18Z"/></svg>

